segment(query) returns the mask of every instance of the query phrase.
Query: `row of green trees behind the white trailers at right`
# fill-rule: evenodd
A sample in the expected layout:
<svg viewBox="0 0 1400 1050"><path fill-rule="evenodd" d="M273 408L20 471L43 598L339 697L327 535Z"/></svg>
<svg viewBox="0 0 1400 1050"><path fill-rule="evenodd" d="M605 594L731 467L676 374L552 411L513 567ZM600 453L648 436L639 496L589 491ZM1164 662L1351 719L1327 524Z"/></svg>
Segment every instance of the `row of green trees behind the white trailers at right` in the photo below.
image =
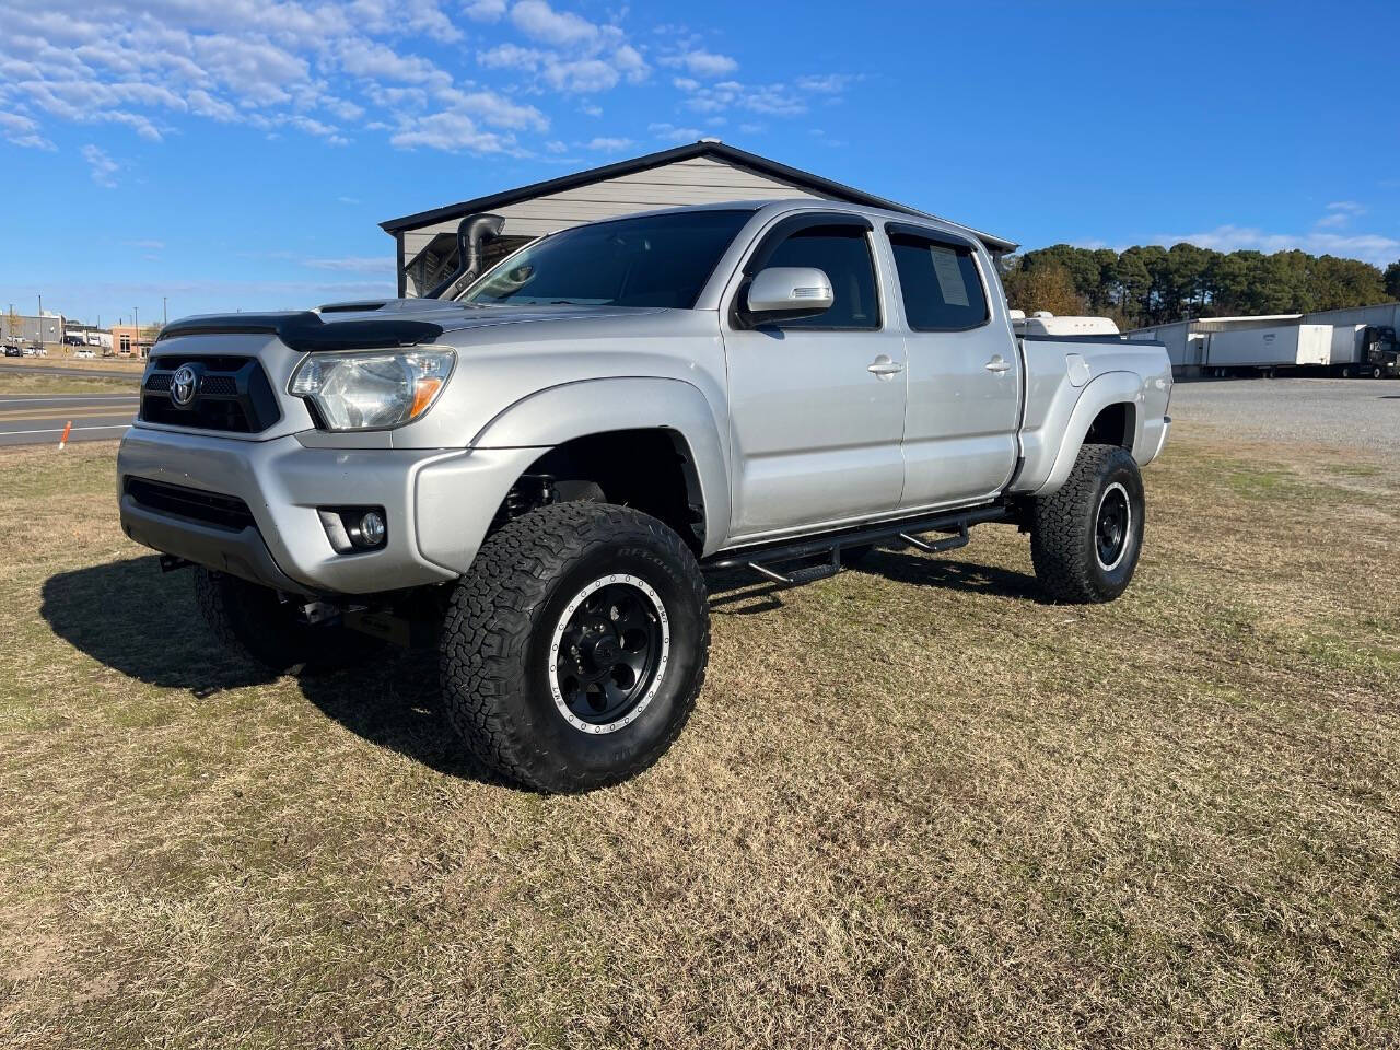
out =
<svg viewBox="0 0 1400 1050"><path fill-rule="evenodd" d="M1012 307L1093 314L1123 330L1201 316L1306 314L1400 300L1400 262L1302 251L1217 252L1193 244L1075 248L1057 244L1002 259Z"/></svg>

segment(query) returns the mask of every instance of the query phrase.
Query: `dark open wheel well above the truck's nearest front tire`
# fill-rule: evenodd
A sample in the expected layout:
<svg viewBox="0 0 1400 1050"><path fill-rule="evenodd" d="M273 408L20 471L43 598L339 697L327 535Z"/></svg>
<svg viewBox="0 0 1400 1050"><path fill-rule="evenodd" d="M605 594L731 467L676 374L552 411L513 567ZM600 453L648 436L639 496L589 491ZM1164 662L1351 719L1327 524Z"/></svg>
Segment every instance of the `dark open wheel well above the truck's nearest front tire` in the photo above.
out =
<svg viewBox="0 0 1400 1050"><path fill-rule="evenodd" d="M493 531L535 507L580 498L570 494L578 486L561 487L561 482L592 482L608 503L661 519L697 553L704 546L700 476L678 431L612 430L556 445L531 463L507 493Z"/></svg>

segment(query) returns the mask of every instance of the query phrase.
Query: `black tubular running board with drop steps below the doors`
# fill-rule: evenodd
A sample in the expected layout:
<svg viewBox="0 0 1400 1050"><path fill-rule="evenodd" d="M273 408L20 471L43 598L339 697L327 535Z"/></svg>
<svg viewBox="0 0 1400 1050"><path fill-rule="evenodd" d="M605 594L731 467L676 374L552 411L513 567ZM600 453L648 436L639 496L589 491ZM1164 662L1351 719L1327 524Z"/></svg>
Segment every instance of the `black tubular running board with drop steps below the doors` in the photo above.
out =
<svg viewBox="0 0 1400 1050"><path fill-rule="evenodd" d="M900 518L878 525L804 536L797 540L777 540L773 543L757 543L752 547L739 547L738 550L722 550L701 561L701 566L704 568L750 568L776 584L797 587L799 584L826 580L840 573L841 550L850 547L899 542L918 547L930 554L938 554L945 550L956 550L958 547L967 546L967 531L973 525L1011 519L1011 511L1001 504L951 514ZM928 542L918 539L918 535L924 532L945 532L949 535L945 539ZM830 554L832 560L825 564L806 566L787 573L774 568L774 566L780 566L784 561L795 561L816 554Z"/></svg>

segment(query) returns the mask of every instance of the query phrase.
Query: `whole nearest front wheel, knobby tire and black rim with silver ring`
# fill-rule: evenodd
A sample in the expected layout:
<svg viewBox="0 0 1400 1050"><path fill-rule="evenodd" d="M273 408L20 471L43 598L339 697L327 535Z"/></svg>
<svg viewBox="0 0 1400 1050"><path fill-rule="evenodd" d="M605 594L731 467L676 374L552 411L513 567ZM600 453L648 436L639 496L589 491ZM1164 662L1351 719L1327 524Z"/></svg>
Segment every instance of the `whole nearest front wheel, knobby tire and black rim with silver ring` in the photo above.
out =
<svg viewBox="0 0 1400 1050"><path fill-rule="evenodd" d="M525 787L615 784L680 734L708 650L704 578L680 536L626 507L552 504L496 532L452 595L448 721Z"/></svg>

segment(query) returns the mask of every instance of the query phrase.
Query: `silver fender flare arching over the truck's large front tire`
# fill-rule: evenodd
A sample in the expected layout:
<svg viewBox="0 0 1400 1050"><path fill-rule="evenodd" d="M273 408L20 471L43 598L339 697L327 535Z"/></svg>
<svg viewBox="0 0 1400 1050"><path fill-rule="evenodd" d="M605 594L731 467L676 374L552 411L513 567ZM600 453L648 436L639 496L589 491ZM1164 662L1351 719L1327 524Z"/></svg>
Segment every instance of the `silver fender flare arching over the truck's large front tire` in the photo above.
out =
<svg viewBox="0 0 1400 1050"><path fill-rule="evenodd" d="M699 386L659 377L578 379L498 412L468 448L556 448L613 430L665 430L689 458L704 505L706 554L729 533L729 469L721 427Z"/></svg>

